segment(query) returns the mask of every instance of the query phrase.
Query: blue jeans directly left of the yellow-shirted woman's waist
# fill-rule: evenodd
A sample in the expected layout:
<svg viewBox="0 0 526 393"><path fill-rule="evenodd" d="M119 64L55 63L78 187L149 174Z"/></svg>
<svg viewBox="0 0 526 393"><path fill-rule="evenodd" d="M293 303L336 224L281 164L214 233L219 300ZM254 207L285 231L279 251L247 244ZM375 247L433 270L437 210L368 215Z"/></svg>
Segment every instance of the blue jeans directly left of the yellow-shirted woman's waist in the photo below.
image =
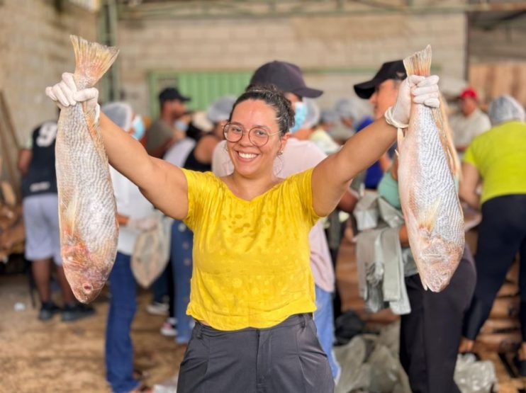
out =
<svg viewBox="0 0 526 393"><path fill-rule="evenodd" d="M174 317L177 318L177 343L187 343L194 328L194 319L186 315L190 302L190 280L192 276L192 248L194 234L179 220L172 224L170 263L174 274Z"/></svg>

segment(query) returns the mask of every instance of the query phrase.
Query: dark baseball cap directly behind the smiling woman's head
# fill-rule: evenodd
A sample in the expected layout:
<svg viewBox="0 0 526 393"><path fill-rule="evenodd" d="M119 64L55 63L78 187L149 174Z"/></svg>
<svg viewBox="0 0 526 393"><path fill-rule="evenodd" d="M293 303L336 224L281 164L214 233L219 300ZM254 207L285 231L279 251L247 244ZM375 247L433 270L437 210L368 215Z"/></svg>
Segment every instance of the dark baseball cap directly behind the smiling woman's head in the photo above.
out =
<svg viewBox="0 0 526 393"><path fill-rule="evenodd" d="M321 90L306 86L300 67L278 60L259 67L252 75L250 84L273 84L281 91L307 98L316 98L323 94Z"/></svg>

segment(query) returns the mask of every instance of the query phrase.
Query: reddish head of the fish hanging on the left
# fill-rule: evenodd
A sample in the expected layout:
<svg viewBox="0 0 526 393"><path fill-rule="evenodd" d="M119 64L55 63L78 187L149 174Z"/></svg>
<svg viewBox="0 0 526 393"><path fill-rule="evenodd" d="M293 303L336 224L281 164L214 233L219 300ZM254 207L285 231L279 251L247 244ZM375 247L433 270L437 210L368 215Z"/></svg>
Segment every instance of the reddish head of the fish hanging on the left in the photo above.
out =
<svg viewBox="0 0 526 393"><path fill-rule="evenodd" d="M82 243L77 242L72 246L62 247L66 278L79 302L93 301L106 283L110 273L108 263L99 259Z"/></svg>

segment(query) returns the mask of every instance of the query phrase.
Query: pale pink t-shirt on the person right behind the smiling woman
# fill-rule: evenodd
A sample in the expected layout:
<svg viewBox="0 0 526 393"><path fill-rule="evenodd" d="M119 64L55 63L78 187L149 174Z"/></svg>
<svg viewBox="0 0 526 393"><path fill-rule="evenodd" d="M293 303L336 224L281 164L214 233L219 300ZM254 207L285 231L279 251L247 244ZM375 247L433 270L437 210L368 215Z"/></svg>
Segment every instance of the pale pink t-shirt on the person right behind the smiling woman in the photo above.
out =
<svg viewBox="0 0 526 393"><path fill-rule="evenodd" d="M216 176L226 176L234 171L230 156L225 149L226 141L218 143L213 152L212 171ZM280 178L286 178L294 173L306 171L318 165L326 155L313 142L289 138L281 156L274 160L274 173ZM310 229L308 236L310 244L310 268L314 282L326 292L335 290L335 274L330 258L327 237L323 231L323 221L319 220Z"/></svg>

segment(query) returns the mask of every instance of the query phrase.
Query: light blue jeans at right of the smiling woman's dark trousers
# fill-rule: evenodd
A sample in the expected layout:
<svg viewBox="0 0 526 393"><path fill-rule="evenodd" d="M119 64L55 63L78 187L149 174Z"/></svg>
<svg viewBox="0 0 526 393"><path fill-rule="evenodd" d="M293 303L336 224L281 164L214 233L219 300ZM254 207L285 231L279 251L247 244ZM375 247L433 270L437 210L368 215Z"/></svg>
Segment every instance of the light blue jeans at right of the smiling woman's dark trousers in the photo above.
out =
<svg viewBox="0 0 526 393"><path fill-rule="evenodd" d="M318 340L320 340L323 351L329 358L332 378L336 379L340 373L340 365L336 362L334 353L332 353L332 343L334 342L334 319L332 319L332 293L327 292L318 285L316 291L316 311L314 312L314 324L318 331Z"/></svg>

